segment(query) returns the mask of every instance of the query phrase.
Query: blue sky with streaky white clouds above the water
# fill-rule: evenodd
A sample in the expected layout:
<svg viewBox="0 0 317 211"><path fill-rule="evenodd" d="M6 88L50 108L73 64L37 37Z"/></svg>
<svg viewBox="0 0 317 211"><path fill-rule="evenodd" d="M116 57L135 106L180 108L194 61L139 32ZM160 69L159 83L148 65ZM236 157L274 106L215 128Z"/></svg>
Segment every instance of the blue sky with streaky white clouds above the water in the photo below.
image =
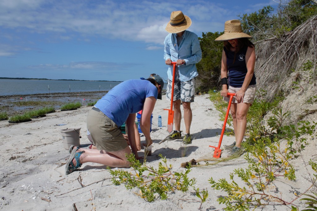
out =
<svg viewBox="0 0 317 211"><path fill-rule="evenodd" d="M171 11L188 29L223 31L273 0L0 0L0 77L124 81L167 78L163 42Z"/></svg>

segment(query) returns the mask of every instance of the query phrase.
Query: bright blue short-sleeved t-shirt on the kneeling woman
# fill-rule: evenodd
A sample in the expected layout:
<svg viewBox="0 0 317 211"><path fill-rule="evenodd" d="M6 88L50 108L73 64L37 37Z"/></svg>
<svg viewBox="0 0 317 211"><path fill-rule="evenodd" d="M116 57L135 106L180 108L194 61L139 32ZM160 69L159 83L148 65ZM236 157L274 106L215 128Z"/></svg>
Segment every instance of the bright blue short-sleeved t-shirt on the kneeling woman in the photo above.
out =
<svg viewBox="0 0 317 211"><path fill-rule="evenodd" d="M95 104L102 113L120 127L128 118L143 109L146 97L157 99L158 89L148 80L131 79L111 89Z"/></svg>

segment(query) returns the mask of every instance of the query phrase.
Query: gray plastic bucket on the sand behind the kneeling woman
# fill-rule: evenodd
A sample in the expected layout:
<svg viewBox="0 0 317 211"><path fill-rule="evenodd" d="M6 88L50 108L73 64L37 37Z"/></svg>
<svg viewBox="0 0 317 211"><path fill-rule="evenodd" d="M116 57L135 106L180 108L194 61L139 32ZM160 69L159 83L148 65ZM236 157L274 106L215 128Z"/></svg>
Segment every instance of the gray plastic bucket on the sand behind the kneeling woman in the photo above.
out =
<svg viewBox="0 0 317 211"><path fill-rule="evenodd" d="M70 146L80 145L80 128L66 128L61 130L61 136L63 137L63 145L65 149L69 149Z"/></svg>

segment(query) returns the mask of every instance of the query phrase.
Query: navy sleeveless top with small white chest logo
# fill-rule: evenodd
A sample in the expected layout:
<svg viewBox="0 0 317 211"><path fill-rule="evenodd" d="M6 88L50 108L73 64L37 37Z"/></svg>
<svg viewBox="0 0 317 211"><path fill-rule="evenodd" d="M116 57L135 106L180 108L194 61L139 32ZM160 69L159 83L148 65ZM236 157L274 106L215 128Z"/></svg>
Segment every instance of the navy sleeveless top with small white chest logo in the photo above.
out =
<svg viewBox="0 0 317 211"><path fill-rule="evenodd" d="M223 50L226 53L227 57L227 66L229 71L229 86L242 87L244 78L248 72L247 65L245 63L245 54L247 53L248 47L243 47L238 53L236 53L235 61L235 52L227 50L225 47L223 47ZM256 76L253 73L249 85L254 84L256 84Z"/></svg>

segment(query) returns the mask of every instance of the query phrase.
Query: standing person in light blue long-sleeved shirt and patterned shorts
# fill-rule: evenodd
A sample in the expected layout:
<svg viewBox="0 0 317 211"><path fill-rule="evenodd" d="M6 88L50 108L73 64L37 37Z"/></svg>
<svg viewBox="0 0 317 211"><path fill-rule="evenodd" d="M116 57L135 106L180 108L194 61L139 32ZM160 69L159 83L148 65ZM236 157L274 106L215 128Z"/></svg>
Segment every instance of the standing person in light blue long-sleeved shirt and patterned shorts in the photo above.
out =
<svg viewBox="0 0 317 211"><path fill-rule="evenodd" d="M171 21L167 23L165 30L169 32L164 41L165 64L169 65L167 70L168 82L166 89L167 100L171 100L171 88L173 80L173 66L176 62L175 83L173 95L175 130L167 140L180 139L180 122L182 113L181 102L184 108L184 122L186 127L184 144L191 143L190 127L192 120L191 102L194 102L195 77L198 76L196 64L202 58L200 43L195 33L187 31L191 26L191 19L182 11L173 11Z"/></svg>

